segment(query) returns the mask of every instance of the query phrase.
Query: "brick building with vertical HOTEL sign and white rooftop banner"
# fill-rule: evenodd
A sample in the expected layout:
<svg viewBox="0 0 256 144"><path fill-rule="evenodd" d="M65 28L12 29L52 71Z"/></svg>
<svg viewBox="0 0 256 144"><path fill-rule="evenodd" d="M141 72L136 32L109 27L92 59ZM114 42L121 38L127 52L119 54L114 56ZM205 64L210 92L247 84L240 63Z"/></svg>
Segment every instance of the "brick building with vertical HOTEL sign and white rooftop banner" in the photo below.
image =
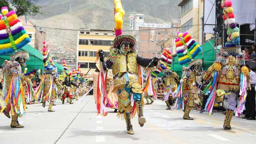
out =
<svg viewBox="0 0 256 144"><path fill-rule="evenodd" d="M130 30L134 30L132 35L137 40L138 54L145 58L158 57L163 44L180 31L179 20L176 23L144 23L143 14L130 15L129 18Z"/></svg>

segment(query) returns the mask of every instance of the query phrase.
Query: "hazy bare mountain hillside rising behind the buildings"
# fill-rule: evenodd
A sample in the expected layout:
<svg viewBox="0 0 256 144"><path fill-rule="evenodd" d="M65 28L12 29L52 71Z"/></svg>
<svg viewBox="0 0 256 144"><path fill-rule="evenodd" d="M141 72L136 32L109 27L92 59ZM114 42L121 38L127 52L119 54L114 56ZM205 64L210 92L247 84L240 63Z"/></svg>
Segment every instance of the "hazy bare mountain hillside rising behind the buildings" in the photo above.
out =
<svg viewBox="0 0 256 144"><path fill-rule="evenodd" d="M125 10L124 30L129 29L130 14L142 13L144 21L150 23L169 23L172 19L180 19L177 5L181 0L121 1ZM38 0L37 4L42 6L43 15L29 17L37 26L61 29L114 28L114 0ZM77 31L46 29L46 33L50 46L73 51L76 55ZM62 59L62 56L57 57Z"/></svg>

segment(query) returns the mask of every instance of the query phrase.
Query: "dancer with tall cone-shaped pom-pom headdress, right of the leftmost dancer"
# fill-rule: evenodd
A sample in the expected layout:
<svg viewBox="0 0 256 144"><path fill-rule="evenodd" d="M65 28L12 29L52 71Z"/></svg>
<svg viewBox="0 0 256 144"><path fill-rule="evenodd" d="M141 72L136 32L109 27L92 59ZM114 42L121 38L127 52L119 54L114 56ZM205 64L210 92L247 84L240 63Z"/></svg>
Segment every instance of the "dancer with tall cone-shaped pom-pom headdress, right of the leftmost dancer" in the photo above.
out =
<svg viewBox="0 0 256 144"><path fill-rule="evenodd" d="M62 89L63 86L58 81L57 68L50 58L48 45L45 42L43 44L42 55L44 69L42 70L42 75L38 71L41 82L37 91L37 97L42 100L43 108L45 107L46 101L50 101L48 112L54 112L55 110L52 110L52 106L54 105L54 101L57 100L57 88Z"/></svg>

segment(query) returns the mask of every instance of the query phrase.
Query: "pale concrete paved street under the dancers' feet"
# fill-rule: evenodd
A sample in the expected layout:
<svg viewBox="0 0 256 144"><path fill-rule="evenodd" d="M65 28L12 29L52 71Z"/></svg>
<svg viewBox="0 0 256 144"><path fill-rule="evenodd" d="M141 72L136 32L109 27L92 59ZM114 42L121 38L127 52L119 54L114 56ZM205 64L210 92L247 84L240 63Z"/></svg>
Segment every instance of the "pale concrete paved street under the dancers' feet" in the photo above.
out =
<svg viewBox="0 0 256 144"><path fill-rule="evenodd" d="M92 96L75 104L56 103L56 112L48 113L41 104L28 105L25 117L19 122L23 129L11 129L10 119L0 115L1 144L255 144L256 121L234 117L231 131L223 130L224 115L208 116L192 111L194 121L183 120L183 112L165 110L157 100L146 105L146 124L139 127L137 117L132 120L135 135L128 135L125 121L108 109L107 117L97 116ZM11 140L12 139L12 140ZM19 142L17 142L19 141Z"/></svg>

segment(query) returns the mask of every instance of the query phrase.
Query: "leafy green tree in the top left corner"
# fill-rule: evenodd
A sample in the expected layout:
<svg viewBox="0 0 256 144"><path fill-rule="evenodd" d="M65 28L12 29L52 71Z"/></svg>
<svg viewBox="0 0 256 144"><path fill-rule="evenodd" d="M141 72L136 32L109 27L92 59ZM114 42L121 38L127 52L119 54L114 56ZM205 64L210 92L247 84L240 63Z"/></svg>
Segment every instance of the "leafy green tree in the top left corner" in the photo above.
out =
<svg viewBox="0 0 256 144"><path fill-rule="evenodd" d="M29 14L35 16L40 12L41 7L33 2L38 0L0 0L0 8L7 6L9 10L15 10L17 16Z"/></svg>

